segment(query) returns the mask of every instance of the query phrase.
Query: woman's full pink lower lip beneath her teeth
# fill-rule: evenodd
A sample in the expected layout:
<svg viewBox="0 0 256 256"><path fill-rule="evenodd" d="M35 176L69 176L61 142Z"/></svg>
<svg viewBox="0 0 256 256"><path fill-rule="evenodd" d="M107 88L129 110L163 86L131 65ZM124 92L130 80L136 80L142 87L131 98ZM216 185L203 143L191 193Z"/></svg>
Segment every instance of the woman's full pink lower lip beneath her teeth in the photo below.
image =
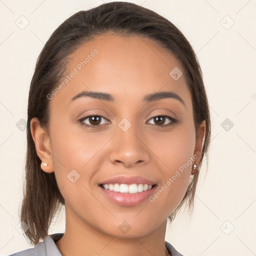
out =
<svg viewBox="0 0 256 256"><path fill-rule="evenodd" d="M122 206L133 206L146 200L155 190L156 185L151 189L137 193L120 193L112 190L104 189L99 186L103 194L112 202Z"/></svg>

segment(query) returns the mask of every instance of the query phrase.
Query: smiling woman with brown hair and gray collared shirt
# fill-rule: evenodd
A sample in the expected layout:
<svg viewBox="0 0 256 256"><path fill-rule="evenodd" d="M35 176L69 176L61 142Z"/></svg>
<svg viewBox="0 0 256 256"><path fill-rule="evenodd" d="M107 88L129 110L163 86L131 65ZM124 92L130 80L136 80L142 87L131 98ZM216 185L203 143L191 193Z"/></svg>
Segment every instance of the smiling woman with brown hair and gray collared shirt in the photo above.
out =
<svg viewBox="0 0 256 256"><path fill-rule="evenodd" d="M12 255L181 255L166 223L192 210L209 141L201 69L170 21L129 2L73 14L31 80L20 220L35 246Z"/></svg>

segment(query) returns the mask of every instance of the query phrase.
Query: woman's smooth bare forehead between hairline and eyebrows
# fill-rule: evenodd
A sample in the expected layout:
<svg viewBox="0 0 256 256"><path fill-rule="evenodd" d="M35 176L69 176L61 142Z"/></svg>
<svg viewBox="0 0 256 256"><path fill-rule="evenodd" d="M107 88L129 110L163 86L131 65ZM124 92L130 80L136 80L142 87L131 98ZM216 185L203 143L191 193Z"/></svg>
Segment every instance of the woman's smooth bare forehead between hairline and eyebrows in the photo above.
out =
<svg viewBox="0 0 256 256"><path fill-rule="evenodd" d="M180 61L145 37L99 35L81 44L69 59L68 78L63 77L63 88L52 104L68 103L82 90L108 92L119 102L127 98L141 101L145 94L162 90L190 97L184 75L171 76L171 70L184 73Z"/></svg>

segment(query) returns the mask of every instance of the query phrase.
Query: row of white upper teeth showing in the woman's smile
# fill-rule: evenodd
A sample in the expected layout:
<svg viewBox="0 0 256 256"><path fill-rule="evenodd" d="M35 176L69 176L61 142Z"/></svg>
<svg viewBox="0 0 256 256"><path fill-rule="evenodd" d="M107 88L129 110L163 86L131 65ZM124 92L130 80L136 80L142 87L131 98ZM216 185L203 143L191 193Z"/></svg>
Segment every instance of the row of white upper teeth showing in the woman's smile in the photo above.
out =
<svg viewBox="0 0 256 256"><path fill-rule="evenodd" d="M137 193L151 189L152 185L148 184L103 184L105 189L120 193Z"/></svg>

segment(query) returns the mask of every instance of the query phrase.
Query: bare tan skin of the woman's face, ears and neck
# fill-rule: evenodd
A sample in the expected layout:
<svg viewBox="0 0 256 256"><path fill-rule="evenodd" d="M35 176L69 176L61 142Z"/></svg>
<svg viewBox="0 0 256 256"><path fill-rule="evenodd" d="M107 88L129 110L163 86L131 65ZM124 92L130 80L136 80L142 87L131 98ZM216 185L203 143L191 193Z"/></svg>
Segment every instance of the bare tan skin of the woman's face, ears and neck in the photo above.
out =
<svg viewBox="0 0 256 256"><path fill-rule="evenodd" d="M94 48L99 50L95 57L50 100L48 129L36 117L30 123L37 154L48 164L41 164L42 171L55 172L65 199L66 228L56 246L63 256L166 255L167 216L183 198L196 171L192 165L198 165L200 157L154 202L114 204L98 182L138 175L155 181L157 191L189 157L201 152L205 121L196 139L185 77L174 80L169 75L174 67L183 72L182 66L156 42L137 36L97 36L72 54L67 73ZM107 92L115 101L80 97L70 102L82 90ZM143 102L145 94L163 90L177 93L185 106L174 98ZM97 128L77 122L92 112L103 116ZM151 118L164 114L178 122L162 127ZM123 118L131 124L125 132L118 126ZM83 122L93 125L89 118ZM80 175L74 183L67 178L72 169ZM123 221L130 225L125 234L118 228Z"/></svg>

